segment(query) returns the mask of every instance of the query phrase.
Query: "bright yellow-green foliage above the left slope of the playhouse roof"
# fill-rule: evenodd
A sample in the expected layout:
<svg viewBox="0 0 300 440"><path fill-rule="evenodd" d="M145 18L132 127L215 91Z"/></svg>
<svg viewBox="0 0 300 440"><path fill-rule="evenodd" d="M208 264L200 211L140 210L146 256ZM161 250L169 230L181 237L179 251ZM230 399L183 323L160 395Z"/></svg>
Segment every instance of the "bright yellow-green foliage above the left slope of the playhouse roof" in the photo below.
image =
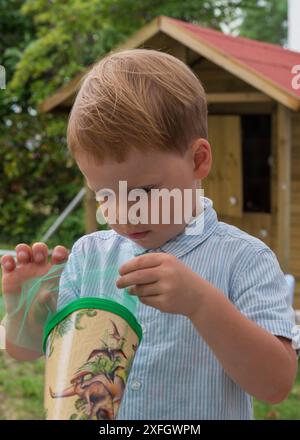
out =
<svg viewBox="0 0 300 440"><path fill-rule="evenodd" d="M26 47L10 89L27 87L34 105L111 49L120 35L101 8L99 0L25 1L21 12L32 19L37 38Z"/></svg>

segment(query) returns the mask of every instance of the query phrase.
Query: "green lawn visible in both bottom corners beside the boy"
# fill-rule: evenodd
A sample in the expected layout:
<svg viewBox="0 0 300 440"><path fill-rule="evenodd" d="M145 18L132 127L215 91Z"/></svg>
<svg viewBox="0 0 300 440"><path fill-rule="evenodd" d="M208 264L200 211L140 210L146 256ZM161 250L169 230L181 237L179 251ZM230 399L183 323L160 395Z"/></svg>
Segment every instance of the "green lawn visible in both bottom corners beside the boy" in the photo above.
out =
<svg viewBox="0 0 300 440"><path fill-rule="evenodd" d="M17 362L0 350L0 420L43 419L44 367L43 358ZM267 420L300 419L300 368L288 399L277 405L254 400L254 415Z"/></svg>

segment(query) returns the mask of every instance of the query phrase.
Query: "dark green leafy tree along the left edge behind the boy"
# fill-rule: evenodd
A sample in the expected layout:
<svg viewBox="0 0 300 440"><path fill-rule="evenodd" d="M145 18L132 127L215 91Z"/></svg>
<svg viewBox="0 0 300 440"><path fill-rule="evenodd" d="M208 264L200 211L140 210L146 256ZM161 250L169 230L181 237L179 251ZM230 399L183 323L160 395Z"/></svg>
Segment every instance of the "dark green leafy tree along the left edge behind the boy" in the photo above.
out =
<svg viewBox="0 0 300 440"><path fill-rule="evenodd" d="M8 80L0 90L0 242L11 244L39 238L43 222L81 186L65 149L65 119L38 115L27 87L10 88L16 65L36 39L34 23L20 12L23 4L0 0L0 64ZM77 227L66 244L78 232Z"/></svg>

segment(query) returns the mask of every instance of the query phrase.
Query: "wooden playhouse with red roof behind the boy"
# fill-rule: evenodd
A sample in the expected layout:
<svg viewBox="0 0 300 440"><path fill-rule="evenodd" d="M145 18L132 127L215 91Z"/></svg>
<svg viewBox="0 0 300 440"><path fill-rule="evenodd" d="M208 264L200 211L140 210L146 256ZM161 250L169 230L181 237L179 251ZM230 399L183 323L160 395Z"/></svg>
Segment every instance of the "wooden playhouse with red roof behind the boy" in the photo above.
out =
<svg viewBox="0 0 300 440"><path fill-rule="evenodd" d="M213 168L203 182L219 220L257 236L296 278L300 308L300 53L160 16L115 50L152 48L187 63L209 104ZM96 60L98 61L98 60ZM41 112L69 112L77 75ZM97 229L87 193L87 232Z"/></svg>

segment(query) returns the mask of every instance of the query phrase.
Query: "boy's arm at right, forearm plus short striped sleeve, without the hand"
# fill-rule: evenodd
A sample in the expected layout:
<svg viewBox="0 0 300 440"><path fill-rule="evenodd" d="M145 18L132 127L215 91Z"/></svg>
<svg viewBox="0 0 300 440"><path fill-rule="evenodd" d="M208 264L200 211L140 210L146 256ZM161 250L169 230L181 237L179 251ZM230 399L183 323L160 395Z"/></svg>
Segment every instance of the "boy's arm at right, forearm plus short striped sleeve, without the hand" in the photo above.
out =
<svg viewBox="0 0 300 440"><path fill-rule="evenodd" d="M297 357L289 340L292 323L280 297L284 292L278 292L280 285L285 288L284 276L276 272L271 252L257 258L256 275L251 267L241 274L235 304L199 277L201 294L189 318L236 383L260 400L278 403L294 383Z"/></svg>

